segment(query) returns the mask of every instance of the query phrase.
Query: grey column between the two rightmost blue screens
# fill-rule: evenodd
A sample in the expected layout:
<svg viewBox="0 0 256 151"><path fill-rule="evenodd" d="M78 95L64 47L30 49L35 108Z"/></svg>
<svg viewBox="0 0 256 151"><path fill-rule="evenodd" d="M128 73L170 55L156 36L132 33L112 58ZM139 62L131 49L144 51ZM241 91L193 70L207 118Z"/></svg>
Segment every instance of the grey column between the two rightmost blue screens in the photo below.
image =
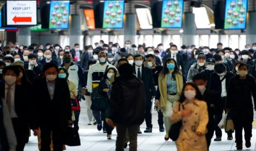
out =
<svg viewBox="0 0 256 151"><path fill-rule="evenodd" d="M195 43L195 15L184 13L182 45L192 45Z"/></svg>

